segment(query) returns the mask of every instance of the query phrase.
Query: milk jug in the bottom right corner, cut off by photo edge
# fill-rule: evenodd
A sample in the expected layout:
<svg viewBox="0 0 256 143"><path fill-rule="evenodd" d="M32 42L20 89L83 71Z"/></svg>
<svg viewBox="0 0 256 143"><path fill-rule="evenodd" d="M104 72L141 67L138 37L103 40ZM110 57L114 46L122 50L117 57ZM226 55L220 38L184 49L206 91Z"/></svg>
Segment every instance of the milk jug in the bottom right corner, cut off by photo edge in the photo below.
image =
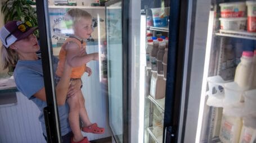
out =
<svg viewBox="0 0 256 143"><path fill-rule="evenodd" d="M256 129L242 125L239 142L255 143L256 142Z"/></svg>

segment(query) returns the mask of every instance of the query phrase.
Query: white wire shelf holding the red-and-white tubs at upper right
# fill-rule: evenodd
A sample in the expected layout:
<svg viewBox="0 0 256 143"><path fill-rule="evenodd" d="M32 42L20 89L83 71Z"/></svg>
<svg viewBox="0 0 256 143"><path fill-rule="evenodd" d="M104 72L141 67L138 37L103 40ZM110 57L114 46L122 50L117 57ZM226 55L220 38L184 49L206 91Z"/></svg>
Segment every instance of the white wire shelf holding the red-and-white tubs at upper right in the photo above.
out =
<svg viewBox="0 0 256 143"><path fill-rule="evenodd" d="M218 33L215 33L215 35L256 40L256 33L249 33L247 31L232 31L232 30L222 30L221 29L221 30L219 30Z"/></svg>

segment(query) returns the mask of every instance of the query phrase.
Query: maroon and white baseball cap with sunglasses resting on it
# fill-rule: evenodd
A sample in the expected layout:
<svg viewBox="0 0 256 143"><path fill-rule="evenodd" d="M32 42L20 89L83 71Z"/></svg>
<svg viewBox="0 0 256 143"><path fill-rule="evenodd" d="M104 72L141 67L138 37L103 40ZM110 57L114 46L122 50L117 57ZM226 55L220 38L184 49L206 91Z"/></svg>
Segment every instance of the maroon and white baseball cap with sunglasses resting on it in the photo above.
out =
<svg viewBox="0 0 256 143"><path fill-rule="evenodd" d="M26 38L32 34L38 27L32 27L29 21L9 21L0 30L0 39L2 44L8 48L11 44L17 40Z"/></svg>

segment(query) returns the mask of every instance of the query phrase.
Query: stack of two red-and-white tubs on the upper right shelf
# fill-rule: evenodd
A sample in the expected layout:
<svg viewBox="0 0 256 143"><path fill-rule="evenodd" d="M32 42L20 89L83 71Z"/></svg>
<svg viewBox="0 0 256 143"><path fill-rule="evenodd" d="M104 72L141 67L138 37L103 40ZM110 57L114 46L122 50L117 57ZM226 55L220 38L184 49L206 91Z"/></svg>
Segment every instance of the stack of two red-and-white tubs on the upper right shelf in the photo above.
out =
<svg viewBox="0 0 256 143"><path fill-rule="evenodd" d="M221 29L245 31L246 30L246 5L245 2L221 3Z"/></svg>

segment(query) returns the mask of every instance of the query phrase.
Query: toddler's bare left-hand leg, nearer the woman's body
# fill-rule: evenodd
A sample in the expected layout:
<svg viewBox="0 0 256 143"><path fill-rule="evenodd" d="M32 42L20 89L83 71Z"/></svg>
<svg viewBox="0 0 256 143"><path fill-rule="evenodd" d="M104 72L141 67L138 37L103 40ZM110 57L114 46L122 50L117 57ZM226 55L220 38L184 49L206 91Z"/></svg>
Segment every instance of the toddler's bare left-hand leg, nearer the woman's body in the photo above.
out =
<svg viewBox="0 0 256 143"><path fill-rule="evenodd" d="M79 93L70 97L67 102L69 104L69 124L70 128L74 134L73 141L78 142L83 140L83 135L79 126Z"/></svg>

